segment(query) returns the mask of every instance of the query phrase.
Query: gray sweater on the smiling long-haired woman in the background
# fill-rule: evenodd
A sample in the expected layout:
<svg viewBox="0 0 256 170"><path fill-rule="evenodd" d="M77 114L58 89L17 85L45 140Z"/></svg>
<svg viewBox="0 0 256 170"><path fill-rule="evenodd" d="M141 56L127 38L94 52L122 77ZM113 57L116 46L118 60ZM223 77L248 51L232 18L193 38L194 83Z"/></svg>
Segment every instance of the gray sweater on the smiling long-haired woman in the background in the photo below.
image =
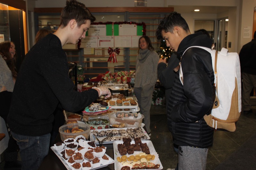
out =
<svg viewBox="0 0 256 170"><path fill-rule="evenodd" d="M140 49L136 61L134 87L143 87L149 84L156 84L158 61L159 56L156 51Z"/></svg>

